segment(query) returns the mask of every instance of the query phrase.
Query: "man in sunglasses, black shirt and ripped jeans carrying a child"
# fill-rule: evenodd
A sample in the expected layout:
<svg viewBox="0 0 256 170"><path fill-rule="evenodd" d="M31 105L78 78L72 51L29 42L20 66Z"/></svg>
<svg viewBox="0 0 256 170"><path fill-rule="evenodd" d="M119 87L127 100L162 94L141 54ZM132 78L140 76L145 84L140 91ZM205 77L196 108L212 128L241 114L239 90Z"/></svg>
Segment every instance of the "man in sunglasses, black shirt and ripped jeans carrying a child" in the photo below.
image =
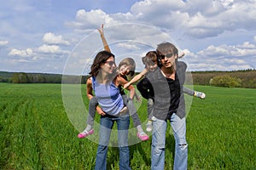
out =
<svg viewBox="0 0 256 170"><path fill-rule="evenodd" d="M156 52L160 61L157 71L148 73L137 84L144 98L154 96L154 122L151 146L151 169L165 168L166 127L171 122L175 138L173 169L187 169L188 144L186 141L185 103L183 83L187 65L177 61L177 48L162 42Z"/></svg>

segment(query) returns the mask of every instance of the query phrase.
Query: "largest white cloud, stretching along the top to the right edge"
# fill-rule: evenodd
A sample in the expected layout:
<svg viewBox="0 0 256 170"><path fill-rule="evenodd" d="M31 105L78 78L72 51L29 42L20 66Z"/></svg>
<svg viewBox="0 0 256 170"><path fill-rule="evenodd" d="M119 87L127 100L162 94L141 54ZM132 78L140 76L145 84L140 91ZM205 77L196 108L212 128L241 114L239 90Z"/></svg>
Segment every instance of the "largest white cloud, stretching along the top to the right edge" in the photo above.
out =
<svg viewBox="0 0 256 170"><path fill-rule="evenodd" d="M202 8L203 7L203 8ZM125 22L148 23L165 31L182 28L184 35L195 38L217 37L224 31L252 30L256 27L256 2L251 0L144 0L134 3L126 14L106 14L102 9L80 9L76 21L69 22L78 30L95 29L101 23L113 26ZM127 28L129 29L129 28Z"/></svg>

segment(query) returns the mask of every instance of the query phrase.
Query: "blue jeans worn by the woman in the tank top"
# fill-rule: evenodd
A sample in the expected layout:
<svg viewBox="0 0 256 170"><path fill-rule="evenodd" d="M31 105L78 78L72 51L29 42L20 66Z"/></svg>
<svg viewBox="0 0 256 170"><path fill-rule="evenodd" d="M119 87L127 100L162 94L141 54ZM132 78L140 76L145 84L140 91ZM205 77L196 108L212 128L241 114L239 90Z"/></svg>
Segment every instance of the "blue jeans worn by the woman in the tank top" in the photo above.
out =
<svg viewBox="0 0 256 170"><path fill-rule="evenodd" d="M127 112L127 114L121 116L101 116L100 141L96 153L96 170L107 169L108 144L114 122L117 123L118 127L119 169L131 169L130 151L128 147L128 128L130 124L130 116Z"/></svg>

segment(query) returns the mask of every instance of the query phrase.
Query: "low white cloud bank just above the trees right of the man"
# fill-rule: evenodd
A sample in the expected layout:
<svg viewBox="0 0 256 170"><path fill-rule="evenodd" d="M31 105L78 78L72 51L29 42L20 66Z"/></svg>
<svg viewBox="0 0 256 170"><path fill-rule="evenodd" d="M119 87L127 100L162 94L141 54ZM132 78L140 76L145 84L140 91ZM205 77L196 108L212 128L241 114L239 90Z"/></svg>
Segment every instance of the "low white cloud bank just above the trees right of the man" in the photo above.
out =
<svg viewBox="0 0 256 170"><path fill-rule="evenodd" d="M242 48L246 45L249 48ZM186 53L192 71L235 71L255 68L250 61L256 54L252 44L209 46L196 54Z"/></svg>

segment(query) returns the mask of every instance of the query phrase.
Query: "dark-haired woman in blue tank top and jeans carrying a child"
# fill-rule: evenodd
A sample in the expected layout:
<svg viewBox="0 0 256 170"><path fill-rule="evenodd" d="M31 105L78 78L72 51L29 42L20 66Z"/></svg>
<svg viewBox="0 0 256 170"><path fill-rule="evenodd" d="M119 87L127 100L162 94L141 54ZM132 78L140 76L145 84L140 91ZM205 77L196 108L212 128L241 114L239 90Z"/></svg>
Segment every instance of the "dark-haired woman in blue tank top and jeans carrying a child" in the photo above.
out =
<svg viewBox="0 0 256 170"><path fill-rule="evenodd" d="M90 67L91 78L87 81L87 90L90 98L95 92L98 104L104 115L100 121L100 141L96 153L96 170L107 169L107 153L113 123L117 122L119 141L119 169L131 169L130 150L128 147L128 128L130 116L124 105L119 86L124 86L125 79L116 74L114 55L108 51L101 51ZM135 94L135 89L130 86L130 98ZM88 93L87 92L87 93Z"/></svg>

